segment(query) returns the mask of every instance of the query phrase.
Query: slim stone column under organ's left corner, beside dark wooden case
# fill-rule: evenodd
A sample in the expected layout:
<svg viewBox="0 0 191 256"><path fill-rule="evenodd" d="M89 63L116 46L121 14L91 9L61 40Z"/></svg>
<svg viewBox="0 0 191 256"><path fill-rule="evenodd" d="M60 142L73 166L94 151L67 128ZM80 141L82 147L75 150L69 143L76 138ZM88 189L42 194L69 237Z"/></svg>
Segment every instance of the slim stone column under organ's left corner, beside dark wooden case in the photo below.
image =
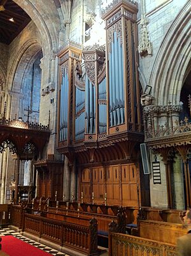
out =
<svg viewBox="0 0 191 256"><path fill-rule="evenodd" d="M71 191L71 173L69 171L69 161L66 156L64 156L64 191L66 201L70 200Z"/></svg>

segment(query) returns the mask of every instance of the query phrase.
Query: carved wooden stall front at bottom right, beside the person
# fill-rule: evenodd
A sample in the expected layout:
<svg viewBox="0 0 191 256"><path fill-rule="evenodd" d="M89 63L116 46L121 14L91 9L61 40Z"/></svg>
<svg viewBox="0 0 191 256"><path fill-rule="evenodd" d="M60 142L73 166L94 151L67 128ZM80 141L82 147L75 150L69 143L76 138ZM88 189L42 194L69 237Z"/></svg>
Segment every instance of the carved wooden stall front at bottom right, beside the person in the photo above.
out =
<svg viewBox="0 0 191 256"><path fill-rule="evenodd" d="M109 256L178 256L176 246L168 243L113 232L109 239Z"/></svg>

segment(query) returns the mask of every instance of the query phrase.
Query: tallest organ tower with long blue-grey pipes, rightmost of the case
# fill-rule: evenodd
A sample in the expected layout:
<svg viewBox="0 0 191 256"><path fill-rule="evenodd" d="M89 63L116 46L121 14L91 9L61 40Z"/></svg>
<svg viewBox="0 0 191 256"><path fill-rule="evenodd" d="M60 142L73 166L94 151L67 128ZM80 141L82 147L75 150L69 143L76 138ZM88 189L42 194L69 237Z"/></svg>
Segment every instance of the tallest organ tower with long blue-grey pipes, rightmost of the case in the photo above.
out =
<svg viewBox="0 0 191 256"><path fill-rule="evenodd" d="M135 1L113 1L102 11L106 21L109 134L141 131ZM125 107L127 106L127 107ZM116 130L113 127L118 125Z"/></svg>

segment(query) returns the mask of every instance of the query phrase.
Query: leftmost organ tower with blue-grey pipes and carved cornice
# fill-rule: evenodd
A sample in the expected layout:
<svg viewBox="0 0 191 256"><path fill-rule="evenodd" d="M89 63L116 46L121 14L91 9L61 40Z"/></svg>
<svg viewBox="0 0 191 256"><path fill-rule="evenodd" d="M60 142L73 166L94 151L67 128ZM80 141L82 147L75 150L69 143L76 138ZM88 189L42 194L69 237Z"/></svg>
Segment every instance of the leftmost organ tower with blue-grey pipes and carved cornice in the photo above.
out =
<svg viewBox="0 0 191 256"><path fill-rule="evenodd" d="M76 47L78 46L78 47ZM85 82L81 78L81 45L72 41L58 53L60 68L59 142L73 144L84 137Z"/></svg>

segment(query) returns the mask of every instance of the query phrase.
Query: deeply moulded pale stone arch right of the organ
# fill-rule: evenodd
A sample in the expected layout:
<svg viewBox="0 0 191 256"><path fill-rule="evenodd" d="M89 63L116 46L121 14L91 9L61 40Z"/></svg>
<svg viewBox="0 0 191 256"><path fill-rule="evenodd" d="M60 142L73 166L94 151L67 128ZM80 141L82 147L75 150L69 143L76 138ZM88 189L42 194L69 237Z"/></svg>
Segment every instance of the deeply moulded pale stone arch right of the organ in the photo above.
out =
<svg viewBox="0 0 191 256"><path fill-rule="evenodd" d="M152 69L150 85L156 104L179 104L184 75L190 61L190 10L188 1L162 41Z"/></svg>

